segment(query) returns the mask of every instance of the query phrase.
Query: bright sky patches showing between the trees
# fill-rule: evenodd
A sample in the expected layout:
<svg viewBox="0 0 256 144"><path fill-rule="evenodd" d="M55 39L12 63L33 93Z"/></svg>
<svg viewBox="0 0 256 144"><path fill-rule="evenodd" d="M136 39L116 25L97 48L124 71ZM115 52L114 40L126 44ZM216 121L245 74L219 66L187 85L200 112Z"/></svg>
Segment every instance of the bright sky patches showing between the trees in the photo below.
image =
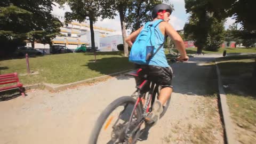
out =
<svg viewBox="0 0 256 144"><path fill-rule="evenodd" d="M174 6L174 11L170 16L169 23L173 26L175 30L181 30L183 29L185 23L188 21L189 14L186 13L185 9L185 2L184 0L171 0L170 3ZM64 8L60 9L58 4L55 4L56 6L53 6L52 13L59 16L64 16L65 12L71 11L68 5L65 5ZM229 25L234 23L235 20L232 18L227 18L225 28L227 29ZM104 19L101 20L101 18L98 19L97 22L95 22L96 26L99 27L105 27L116 30L113 35L119 34L122 35L121 31L121 22L119 15L115 17L115 19ZM129 32L129 30L127 30ZM129 34L129 33L128 33Z"/></svg>

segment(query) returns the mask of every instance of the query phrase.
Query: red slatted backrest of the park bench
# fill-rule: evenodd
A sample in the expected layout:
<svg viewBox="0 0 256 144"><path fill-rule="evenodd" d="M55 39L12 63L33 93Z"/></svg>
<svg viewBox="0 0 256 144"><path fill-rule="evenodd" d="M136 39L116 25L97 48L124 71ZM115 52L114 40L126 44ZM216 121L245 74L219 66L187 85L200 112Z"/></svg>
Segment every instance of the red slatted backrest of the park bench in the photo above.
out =
<svg viewBox="0 0 256 144"><path fill-rule="evenodd" d="M0 75L0 85L10 83L20 83L17 73Z"/></svg>

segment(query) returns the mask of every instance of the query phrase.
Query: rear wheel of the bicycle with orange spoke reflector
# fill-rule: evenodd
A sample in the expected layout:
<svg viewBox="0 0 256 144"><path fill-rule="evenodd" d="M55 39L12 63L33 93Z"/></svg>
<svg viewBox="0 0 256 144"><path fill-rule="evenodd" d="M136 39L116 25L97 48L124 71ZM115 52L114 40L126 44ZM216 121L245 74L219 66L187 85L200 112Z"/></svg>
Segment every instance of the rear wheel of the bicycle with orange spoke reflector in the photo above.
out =
<svg viewBox="0 0 256 144"><path fill-rule="evenodd" d="M89 143L123 143L127 126L129 126L129 131L132 131L142 117L141 106L138 103L132 122L129 124L135 103L136 100L130 96L121 97L111 102L97 119ZM131 143L135 143L138 133L132 137L136 137L131 140Z"/></svg>

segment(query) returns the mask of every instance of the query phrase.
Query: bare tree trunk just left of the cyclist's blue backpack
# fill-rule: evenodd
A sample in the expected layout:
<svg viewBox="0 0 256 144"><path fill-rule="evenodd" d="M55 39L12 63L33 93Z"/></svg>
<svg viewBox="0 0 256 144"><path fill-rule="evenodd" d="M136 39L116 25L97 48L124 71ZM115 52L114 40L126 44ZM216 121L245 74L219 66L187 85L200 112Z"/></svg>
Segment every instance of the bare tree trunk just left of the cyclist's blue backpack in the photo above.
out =
<svg viewBox="0 0 256 144"><path fill-rule="evenodd" d="M126 39L126 28L124 22L124 9L123 7L119 7L119 15L121 21L121 28L122 28L122 36L123 36L123 43L124 43L124 57L128 57L128 44L125 42Z"/></svg>

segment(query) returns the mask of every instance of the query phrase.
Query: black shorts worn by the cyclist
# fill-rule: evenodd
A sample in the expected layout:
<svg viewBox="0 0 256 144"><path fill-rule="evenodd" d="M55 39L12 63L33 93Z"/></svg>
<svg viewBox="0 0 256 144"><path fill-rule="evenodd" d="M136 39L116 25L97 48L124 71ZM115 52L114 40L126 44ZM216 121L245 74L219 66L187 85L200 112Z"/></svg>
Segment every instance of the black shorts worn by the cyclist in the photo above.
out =
<svg viewBox="0 0 256 144"><path fill-rule="evenodd" d="M135 65L135 68L141 68L138 72L138 78L136 79L136 84L140 85L145 79L151 82L157 83L162 87L172 86L172 68L171 67L158 67L151 65Z"/></svg>

